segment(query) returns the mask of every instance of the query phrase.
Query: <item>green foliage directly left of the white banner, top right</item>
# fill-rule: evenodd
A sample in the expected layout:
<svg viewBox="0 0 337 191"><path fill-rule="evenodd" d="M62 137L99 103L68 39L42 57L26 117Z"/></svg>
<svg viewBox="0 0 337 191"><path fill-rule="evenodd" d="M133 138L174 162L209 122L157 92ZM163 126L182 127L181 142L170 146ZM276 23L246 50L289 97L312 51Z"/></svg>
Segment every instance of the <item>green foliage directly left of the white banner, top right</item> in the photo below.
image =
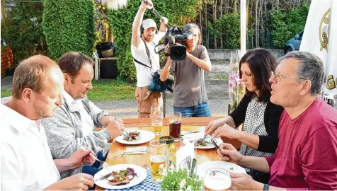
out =
<svg viewBox="0 0 337 191"><path fill-rule="evenodd" d="M272 11L270 18L273 28L273 44L283 48L287 40L304 30L309 12L309 4L304 4L289 11Z"/></svg>

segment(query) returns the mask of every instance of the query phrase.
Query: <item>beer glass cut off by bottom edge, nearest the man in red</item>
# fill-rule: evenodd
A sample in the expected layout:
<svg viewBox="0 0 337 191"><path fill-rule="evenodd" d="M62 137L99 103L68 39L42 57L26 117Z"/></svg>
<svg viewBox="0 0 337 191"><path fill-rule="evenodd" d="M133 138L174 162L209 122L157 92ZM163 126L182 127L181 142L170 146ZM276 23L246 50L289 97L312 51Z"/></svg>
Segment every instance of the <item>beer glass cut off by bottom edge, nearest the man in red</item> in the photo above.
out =
<svg viewBox="0 0 337 191"><path fill-rule="evenodd" d="M204 178L205 190L230 190L232 179L224 168L209 168Z"/></svg>

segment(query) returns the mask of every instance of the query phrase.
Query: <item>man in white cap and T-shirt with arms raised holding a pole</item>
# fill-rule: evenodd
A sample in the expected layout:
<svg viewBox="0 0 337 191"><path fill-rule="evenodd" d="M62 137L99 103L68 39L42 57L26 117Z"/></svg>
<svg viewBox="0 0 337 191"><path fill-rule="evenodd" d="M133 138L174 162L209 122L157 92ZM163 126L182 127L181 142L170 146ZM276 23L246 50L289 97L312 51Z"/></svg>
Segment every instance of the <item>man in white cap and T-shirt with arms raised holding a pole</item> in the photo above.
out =
<svg viewBox="0 0 337 191"><path fill-rule="evenodd" d="M138 103L139 118L149 118L151 106L159 105L160 103L160 105L162 105L161 93L149 91L149 85L152 83L152 75L154 72L160 70L159 54L154 52L154 47L158 44L159 40L164 37L166 31L165 25L168 19L165 17L161 18L159 32L156 33L157 28L154 20L146 19L142 21L146 9L151 10L152 8L153 3L151 0L142 1L132 24L131 53L132 57L134 57L137 71L135 96ZM142 25L140 23L142 23ZM135 59L142 64L135 62Z"/></svg>

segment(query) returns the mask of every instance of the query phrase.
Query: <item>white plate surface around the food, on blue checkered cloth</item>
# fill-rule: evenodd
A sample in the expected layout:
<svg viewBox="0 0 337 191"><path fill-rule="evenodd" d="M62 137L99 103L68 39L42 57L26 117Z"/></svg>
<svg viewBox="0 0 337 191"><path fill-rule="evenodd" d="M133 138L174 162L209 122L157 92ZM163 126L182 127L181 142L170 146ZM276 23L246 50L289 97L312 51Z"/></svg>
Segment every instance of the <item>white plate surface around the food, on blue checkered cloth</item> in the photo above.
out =
<svg viewBox="0 0 337 191"><path fill-rule="evenodd" d="M106 175L108 173L112 173L114 170L126 170L127 168L133 168L135 170L135 173L137 173L137 176L130 180L130 183L127 185L119 185L119 186L113 186L108 183L108 180L98 180L95 182L96 185L106 188L106 189L122 189L122 188L127 188L127 187L132 187L135 185L138 185L139 183L142 183L145 178L147 178L147 170L144 168L137 166L137 165L132 165L132 164L119 164L119 165L114 165L114 166L109 166L107 168L103 168L101 171L96 173L94 175L93 179L98 179L102 177L103 175Z"/></svg>

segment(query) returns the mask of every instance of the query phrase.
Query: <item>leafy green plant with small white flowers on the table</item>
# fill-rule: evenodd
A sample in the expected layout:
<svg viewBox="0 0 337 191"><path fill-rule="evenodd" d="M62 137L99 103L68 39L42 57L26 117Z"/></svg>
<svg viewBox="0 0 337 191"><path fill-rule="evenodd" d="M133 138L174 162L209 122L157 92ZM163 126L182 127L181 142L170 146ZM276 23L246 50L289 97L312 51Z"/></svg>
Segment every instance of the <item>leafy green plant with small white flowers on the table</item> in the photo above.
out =
<svg viewBox="0 0 337 191"><path fill-rule="evenodd" d="M169 170L161 182L161 190L202 190L202 185L198 175L188 178L188 170L179 168Z"/></svg>

